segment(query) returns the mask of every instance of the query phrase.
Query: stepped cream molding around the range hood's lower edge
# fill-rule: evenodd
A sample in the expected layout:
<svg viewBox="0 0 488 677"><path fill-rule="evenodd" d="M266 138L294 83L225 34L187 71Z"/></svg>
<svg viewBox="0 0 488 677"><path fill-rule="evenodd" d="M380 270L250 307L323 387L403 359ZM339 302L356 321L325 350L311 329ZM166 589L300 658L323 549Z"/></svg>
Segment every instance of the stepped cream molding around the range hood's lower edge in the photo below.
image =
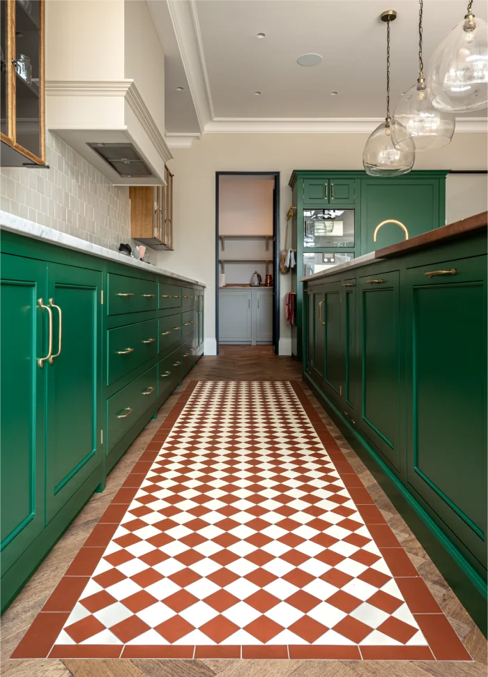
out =
<svg viewBox="0 0 488 677"><path fill-rule="evenodd" d="M134 80L47 80L45 91L46 96L116 96L123 98L162 160L167 162L173 157Z"/></svg>

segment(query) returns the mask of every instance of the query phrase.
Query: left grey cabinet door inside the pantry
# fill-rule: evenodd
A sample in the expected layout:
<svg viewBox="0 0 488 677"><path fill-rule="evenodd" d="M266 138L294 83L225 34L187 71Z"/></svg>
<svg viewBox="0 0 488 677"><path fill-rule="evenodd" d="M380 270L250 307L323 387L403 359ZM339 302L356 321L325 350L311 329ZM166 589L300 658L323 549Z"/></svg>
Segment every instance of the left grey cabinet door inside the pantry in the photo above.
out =
<svg viewBox="0 0 488 677"><path fill-rule="evenodd" d="M251 291L226 289L219 292L219 341L250 343L252 341Z"/></svg>

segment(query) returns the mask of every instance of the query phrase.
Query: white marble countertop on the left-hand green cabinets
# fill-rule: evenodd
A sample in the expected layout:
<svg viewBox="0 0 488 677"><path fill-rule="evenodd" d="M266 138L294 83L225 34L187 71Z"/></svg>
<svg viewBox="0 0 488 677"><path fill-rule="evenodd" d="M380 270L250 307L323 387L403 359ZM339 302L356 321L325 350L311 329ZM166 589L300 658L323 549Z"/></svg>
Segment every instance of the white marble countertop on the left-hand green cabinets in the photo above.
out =
<svg viewBox="0 0 488 677"><path fill-rule="evenodd" d="M190 282L190 284L199 284L201 287L206 287L206 284L199 282L199 280L192 280L191 277L184 277L184 275L177 275L176 273L171 273L171 271L165 271L164 268L146 264L144 261L137 261L137 259L132 259L132 257L128 257L120 252L114 252L106 247L100 247L100 245L86 242L86 240L82 240L81 238L75 238L73 235L62 233L61 231L42 226L34 221L29 221L21 216L15 216L15 214L10 214L1 210L0 230L16 233L17 235L24 235L29 238L34 238L35 240L42 240L43 242L49 242L53 245L72 249L76 252L82 252L83 254L90 254L91 256L96 256L100 259L116 261L118 264L139 268L148 273L166 275L167 277L173 277L174 280L181 280L183 282Z"/></svg>

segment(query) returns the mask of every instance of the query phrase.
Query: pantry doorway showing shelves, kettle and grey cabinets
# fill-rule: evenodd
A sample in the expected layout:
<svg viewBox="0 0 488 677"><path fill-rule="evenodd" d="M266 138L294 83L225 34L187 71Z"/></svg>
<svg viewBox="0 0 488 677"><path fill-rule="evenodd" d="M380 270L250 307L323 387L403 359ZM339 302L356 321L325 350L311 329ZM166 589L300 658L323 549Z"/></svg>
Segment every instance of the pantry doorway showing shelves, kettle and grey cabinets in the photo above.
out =
<svg viewBox="0 0 488 677"><path fill-rule="evenodd" d="M220 344L280 340L280 172L216 172L215 336Z"/></svg>

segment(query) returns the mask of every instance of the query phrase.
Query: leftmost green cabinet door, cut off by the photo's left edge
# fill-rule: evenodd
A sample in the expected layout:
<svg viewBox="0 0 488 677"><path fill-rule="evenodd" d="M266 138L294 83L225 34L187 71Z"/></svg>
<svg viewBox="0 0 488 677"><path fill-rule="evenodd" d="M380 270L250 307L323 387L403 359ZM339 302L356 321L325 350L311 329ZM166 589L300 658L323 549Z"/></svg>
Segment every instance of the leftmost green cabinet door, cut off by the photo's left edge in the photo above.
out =
<svg viewBox="0 0 488 677"><path fill-rule="evenodd" d="M0 577L44 527L46 264L0 254Z"/></svg>

